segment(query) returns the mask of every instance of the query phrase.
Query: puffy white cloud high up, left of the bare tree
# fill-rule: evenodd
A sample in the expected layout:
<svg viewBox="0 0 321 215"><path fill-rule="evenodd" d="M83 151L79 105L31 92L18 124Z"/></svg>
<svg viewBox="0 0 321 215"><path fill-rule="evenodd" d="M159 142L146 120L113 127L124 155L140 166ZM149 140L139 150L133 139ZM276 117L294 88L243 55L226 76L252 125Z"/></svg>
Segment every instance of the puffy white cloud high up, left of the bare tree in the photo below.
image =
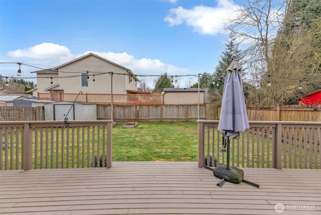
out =
<svg viewBox="0 0 321 215"><path fill-rule="evenodd" d="M164 21L172 27L185 23L200 34L217 35L222 31L223 23L228 20L229 14L237 7L234 2L229 0L217 0L217 2L217 7L201 5L191 10L182 7L171 9Z"/></svg>

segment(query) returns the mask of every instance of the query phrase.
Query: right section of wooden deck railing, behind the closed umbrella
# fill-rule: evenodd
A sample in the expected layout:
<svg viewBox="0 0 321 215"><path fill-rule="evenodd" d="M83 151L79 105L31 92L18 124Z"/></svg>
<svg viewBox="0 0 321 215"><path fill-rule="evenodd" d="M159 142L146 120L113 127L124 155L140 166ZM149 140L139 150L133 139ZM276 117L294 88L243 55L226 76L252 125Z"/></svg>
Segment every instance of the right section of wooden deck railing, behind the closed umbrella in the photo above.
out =
<svg viewBox="0 0 321 215"><path fill-rule="evenodd" d="M226 163L218 123L198 121L199 167ZM230 165L320 169L320 130L320 122L250 121L250 129L230 141Z"/></svg>

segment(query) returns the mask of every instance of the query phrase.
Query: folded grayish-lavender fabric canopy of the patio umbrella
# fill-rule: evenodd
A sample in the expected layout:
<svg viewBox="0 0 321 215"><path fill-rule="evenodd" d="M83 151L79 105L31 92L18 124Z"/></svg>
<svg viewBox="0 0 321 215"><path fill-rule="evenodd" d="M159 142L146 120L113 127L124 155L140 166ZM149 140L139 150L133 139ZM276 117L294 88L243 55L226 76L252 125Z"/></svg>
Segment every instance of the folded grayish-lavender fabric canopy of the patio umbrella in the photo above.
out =
<svg viewBox="0 0 321 215"><path fill-rule="evenodd" d="M242 66L235 56L233 56L227 71L218 130L231 139L239 136L240 132L250 126L243 93Z"/></svg>

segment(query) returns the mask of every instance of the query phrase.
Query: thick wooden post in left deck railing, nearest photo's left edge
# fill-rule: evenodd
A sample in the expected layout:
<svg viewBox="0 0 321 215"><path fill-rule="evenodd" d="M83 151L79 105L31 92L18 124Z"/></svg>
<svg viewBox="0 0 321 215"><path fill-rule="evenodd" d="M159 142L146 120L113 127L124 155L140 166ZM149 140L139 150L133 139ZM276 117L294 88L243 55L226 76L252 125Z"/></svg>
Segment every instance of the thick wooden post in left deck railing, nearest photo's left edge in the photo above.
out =
<svg viewBox="0 0 321 215"><path fill-rule="evenodd" d="M24 170L32 169L32 128L30 123L24 124L22 142L22 168Z"/></svg>

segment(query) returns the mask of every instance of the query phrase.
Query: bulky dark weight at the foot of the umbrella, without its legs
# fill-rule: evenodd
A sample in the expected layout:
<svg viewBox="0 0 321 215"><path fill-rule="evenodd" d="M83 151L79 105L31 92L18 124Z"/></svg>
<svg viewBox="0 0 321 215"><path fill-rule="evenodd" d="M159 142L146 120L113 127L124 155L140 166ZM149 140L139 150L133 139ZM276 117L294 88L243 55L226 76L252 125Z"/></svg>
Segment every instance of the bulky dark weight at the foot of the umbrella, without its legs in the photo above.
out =
<svg viewBox="0 0 321 215"><path fill-rule="evenodd" d="M240 183L244 178L244 171L242 169L233 166L227 169L225 164L216 166L213 173L216 177L223 178L232 183Z"/></svg>

